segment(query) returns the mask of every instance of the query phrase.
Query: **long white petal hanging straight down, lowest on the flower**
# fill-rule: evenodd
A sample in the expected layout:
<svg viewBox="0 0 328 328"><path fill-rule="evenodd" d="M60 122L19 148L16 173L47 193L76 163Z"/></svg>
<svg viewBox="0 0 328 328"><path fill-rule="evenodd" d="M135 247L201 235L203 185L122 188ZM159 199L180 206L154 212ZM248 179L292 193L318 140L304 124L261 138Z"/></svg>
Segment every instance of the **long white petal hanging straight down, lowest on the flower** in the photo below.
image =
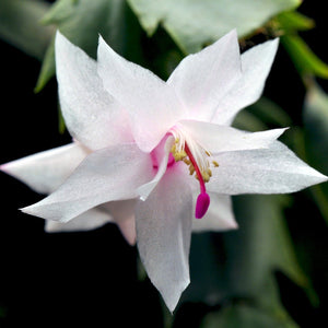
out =
<svg viewBox="0 0 328 328"><path fill-rule="evenodd" d="M145 271L169 311L189 284L191 190L176 169L167 169L136 213L137 245Z"/></svg>

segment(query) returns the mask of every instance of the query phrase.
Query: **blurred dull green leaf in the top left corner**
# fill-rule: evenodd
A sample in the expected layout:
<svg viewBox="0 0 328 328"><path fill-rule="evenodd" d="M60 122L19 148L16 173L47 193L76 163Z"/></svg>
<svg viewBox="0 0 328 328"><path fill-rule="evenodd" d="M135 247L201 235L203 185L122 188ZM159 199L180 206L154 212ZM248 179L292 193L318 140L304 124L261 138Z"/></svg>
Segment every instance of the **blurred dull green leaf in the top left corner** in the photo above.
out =
<svg viewBox="0 0 328 328"><path fill-rule="evenodd" d="M37 0L0 1L0 37L27 55L42 59L54 35L40 19L49 4Z"/></svg>

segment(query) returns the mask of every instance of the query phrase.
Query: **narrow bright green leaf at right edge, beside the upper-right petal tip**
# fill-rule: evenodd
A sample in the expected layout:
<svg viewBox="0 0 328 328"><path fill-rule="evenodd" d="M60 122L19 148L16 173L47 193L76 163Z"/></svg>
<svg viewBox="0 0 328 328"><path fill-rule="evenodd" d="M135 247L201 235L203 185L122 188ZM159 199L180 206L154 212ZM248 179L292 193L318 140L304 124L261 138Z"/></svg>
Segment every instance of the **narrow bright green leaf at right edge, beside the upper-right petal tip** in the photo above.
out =
<svg viewBox="0 0 328 328"><path fill-rule="evenodd" d="M328 79L328 65L321 61L298 35L284 35L281 43L303 78L315 75Z"/></svg>

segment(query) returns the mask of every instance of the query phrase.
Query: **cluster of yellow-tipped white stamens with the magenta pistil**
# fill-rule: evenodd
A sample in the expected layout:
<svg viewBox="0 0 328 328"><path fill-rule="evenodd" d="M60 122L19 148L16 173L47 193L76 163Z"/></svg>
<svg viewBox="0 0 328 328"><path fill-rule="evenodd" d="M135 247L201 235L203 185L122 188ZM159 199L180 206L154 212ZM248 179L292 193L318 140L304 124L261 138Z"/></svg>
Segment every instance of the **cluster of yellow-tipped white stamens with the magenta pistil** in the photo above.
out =
<svg viewBox="0 0 328 328"><path fill-rule="evenodd" d="M196 201L195 216L196 219L201 219L210 206L210 196L207 194L206 183L212 176L209 161L211 154L179 129L173 129L172 134L175 138L175 143L171 149L171 154L175 162L183 161L187 164L189 174L195 174L195 177L199 181L200 194ZM212 161L212 164L214 167L219 166L215 161Z"/></svg>

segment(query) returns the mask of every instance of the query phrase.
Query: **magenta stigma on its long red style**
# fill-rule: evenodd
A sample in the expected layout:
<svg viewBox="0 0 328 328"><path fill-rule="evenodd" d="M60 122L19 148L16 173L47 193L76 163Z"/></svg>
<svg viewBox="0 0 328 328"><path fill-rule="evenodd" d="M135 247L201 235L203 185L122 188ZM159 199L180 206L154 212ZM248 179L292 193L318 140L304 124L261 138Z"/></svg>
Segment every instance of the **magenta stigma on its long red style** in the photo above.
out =
<svg viewBox="0 0 328 328"><path fill-rule="evenodd" d="M185 152L188 155L190 162L192 163L198 180L199 180L199 186L200 186L200 194L197 197L197 201L196 201L196 211L195 211L195 216L196 219L201 219L208 211L209 206L210 206L210 196L207 194L207 188L204 186L204 181L201 175L201 172L197 165L197 162L192 155L192 153L190 152L190 149L188 147L188 144L185 144Z"/></svg>

